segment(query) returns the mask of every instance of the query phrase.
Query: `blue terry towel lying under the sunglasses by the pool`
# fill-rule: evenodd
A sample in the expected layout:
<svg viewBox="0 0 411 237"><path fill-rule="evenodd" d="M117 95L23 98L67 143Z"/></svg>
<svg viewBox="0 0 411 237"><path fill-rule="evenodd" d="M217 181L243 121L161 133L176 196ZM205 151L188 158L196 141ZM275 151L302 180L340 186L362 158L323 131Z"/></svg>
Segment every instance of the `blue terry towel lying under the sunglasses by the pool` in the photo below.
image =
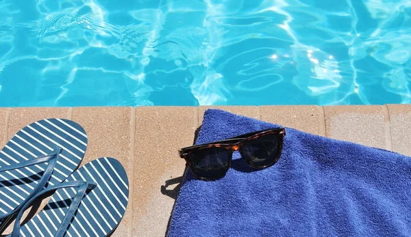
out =
<svg viewBox="0 0 411 237"><path fill-rule="evenodd" d="M195 143L275 127L209 109ZM408 156L286 128L272 167L238 158L220 180L186 171L168 236L411 236Z"/></svg>

